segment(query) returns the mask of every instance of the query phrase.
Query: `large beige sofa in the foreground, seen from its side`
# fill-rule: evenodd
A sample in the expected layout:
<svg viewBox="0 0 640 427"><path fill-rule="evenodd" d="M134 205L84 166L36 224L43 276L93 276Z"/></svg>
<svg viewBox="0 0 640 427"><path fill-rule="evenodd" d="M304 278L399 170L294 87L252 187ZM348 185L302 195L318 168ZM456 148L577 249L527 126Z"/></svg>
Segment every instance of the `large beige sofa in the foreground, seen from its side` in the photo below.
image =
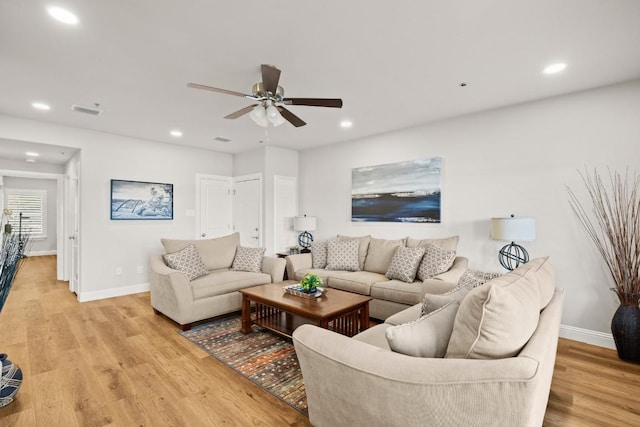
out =
<svg viewBox="0 0 640 427"><path fill-rule="evenodd" d="M542 425L564 294L555 288L548 260L534 261L525 264L527 269L520 267L474 288L461 300L444 358L390 350L385 339L389 329L419 322L395 327L385 323L353 338L312 325L296 329L293 342L311 423L316 427ZM415 320L420 308L411 307L390 320ZM480 323L467 331L471 335L465 345L470 347L464 357L456 353L469 327L465 322L469 310L478 311ZM532 319L533 332L526 331L524 326ZM522 334L525 344L518 348ZM514 343L512 353L505 356L482 354L504 351Z"/></svg>

